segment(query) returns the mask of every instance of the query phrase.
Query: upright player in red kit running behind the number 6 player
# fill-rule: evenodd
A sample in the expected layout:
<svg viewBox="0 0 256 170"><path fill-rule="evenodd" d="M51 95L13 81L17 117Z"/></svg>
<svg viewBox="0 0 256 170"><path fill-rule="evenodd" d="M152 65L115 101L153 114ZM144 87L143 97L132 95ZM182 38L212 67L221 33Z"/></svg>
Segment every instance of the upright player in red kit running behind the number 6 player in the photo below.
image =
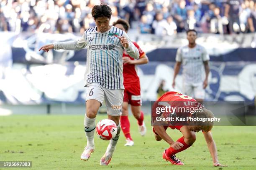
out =
<svg viewBox="0 0 256 170"><path fill-rule="evenodd" d="M127 21L119 19L113 26L120 30L128 32L130 25ZM131 104L131 111L134 117L138 120L139 132L142 136L146 134L146 126L144 123L144 115L141 111L141 86L140 79L137 75L136 65L148 63L148 57L145 52L141 50L136 42L133 44L139 50L139 59L134 60L130 57L127 52L123 52L123 85L125 86L124 97L123 97L123 113L120 117L121 128L126 138L125 146L133 146L134 142L130 134L130 122L128 119L128 104Z"/></svg>

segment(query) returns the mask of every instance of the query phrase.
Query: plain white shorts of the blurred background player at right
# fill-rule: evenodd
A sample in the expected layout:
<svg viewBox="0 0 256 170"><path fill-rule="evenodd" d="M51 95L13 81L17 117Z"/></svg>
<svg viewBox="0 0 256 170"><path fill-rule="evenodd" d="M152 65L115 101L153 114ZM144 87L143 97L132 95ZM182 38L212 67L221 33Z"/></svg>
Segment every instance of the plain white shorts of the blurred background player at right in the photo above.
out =
<svg viewBox="0 0 256 170"><path fill-rule="evenodd" d="M205 89L203 82L183 83L183 93L195 99L205 99Z"/></svg>

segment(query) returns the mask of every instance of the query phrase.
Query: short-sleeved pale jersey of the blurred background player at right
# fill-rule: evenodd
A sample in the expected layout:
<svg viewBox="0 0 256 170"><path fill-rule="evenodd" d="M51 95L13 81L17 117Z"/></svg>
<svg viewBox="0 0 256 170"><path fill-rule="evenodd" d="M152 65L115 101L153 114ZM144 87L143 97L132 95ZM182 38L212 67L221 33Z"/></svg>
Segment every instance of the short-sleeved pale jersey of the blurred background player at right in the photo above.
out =
<svg viewBox="0 0 256 170"><path fill-rule="evenodd" d="M176 61L182 62L183 81L187 83L202 82L205 79L204 61L210 60L205 47L196 45L189 48L188 45L177 50Z"/></svg>

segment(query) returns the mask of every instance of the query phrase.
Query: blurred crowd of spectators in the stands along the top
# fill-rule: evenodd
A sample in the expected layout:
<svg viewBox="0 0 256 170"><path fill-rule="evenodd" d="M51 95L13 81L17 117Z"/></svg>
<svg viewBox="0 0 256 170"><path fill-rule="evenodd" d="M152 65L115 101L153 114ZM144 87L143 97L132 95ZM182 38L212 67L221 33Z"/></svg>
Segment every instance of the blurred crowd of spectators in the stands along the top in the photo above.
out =
<svg viewBox="0 0 256 170"><path fill-rule="evenodd" d="M82 33L95 26L91 9L102 2L113 11L110 22L123 18L140 33L256 30L256 0L0 0L0 31Z"/></svg>

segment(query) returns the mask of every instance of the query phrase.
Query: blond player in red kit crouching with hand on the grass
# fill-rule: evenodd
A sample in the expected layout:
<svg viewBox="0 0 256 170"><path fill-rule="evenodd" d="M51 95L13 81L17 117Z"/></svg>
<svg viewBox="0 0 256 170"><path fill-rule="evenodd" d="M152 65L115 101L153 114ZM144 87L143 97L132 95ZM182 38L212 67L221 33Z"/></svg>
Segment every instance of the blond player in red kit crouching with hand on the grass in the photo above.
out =
<svg viewBox="0 0 256 170"><path fill-rule="evenodd" d="M161 114L157 113L157 107L179 107L179 108L190 108L190 112L184 112L175 110L172 112L172 117L207 117L207 118L213 118L214 115L210 110L207 110L203 107L202 104L197 102L197 100L193 99L190 96L183 95L179 92L166 92L164 95L162 95L159 100L157 100L152 108L152 118L154 120L153 122L153 132L155 134L155 139L165 140L170 147L166 150L164 150L163 158L165 160L170 161L174 165L184 165L178 158L176 158L177 153L182 152L183 150L186 150L196 140L196 132L199 132L202 130L202 133L205 137L205 141L207 143L207 147L210 151L210 154L212 156L213 166L226 166L221 165L218 161L218 153L217 148L215 145L215 142L212 138L211 129L213 126L213 122L206 121L203 123L202 121L184 121L181 122L180 120L170 121L168 122L168 125L166 122L163 121L156 121L156 116L160 117L170 117L170 112L161 112ZM192 107L193 111L192 112ZM159 114L159 115L158 115ZM182 137L179 138L176 142L166 133L166 129L170 127L172 129L177 129L182 133Z"/></svg>

